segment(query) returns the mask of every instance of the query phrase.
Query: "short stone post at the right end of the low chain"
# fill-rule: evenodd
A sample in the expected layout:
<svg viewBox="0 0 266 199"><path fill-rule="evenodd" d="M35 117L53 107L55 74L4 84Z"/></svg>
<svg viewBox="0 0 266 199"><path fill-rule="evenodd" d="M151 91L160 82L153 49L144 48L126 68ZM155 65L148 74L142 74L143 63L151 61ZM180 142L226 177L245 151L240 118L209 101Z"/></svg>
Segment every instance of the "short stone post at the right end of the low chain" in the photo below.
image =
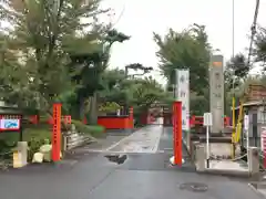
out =
<svg viewBox="0 0 266 199"><path fill-rule="evenodd" d="M259 175L259 155L257 147L249 147L247 150L247 164L250 176Z"/></svg>

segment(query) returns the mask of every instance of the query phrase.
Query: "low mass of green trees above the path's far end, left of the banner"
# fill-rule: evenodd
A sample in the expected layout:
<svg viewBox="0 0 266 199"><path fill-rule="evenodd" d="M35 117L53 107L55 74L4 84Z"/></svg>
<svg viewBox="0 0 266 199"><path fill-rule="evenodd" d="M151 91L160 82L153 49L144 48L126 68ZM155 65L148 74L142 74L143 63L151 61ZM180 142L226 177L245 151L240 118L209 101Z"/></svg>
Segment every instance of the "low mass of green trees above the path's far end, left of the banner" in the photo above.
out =
<svg viewBox="0 0 266 199"><path fill-rule="evenodd" d="M146 112L155 102L173 102L172 94L165 92L151 76L129 80L124 71L115 69L104 72L104 85L105 90L100 92L101 103L115 102L121 106L133 106L135 115Z"/></svg>

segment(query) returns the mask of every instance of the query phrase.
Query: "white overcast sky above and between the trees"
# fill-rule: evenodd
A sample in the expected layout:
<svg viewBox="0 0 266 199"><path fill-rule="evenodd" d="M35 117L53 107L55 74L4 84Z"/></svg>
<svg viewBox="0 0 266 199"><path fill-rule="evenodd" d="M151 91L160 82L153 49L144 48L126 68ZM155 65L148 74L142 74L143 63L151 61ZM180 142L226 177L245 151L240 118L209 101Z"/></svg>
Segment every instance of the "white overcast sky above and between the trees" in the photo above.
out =
<svg viewBox="0 0 266 199"><path fill-rule="evenodd" d="M256 0L235 0L236 53L247 51L255 3ZM152 32L164 35L168 28L182 31L193 23L206 25L214 49L219 49L226 60L232 56L232 0L104 0L104 7L114 9L115 28L132 36L113 46L112 67L135 62L156 67ZM259 10L258 23L266 27L265 0L260 0Z"/></svg>

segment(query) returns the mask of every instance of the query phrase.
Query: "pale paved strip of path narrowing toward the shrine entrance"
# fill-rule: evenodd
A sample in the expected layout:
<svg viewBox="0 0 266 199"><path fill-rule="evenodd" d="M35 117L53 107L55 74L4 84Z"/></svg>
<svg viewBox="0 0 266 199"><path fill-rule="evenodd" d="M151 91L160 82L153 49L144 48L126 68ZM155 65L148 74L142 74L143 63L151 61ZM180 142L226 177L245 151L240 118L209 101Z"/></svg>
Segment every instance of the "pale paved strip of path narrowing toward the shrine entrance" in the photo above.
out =
<svg viewBox="0 0 266 199"><path fill-rule="evenodd" d="M110 146L106 150L112 153L149 153L157 151L163 126L151 125L139 129L129 137Z"/></svg>

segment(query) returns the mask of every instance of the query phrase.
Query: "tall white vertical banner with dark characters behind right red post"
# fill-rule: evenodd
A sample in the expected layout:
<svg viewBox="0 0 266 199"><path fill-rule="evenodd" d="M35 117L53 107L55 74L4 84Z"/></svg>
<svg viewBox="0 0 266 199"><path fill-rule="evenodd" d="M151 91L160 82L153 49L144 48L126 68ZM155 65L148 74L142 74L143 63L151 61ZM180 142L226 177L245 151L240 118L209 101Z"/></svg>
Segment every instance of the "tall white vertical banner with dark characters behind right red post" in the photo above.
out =
<svg viewBox="0 0 266 199"><path fill-rule="evenodd" d="M182 129L190 130L190 71L175 70L176 101L182 102Z"/></svg>

